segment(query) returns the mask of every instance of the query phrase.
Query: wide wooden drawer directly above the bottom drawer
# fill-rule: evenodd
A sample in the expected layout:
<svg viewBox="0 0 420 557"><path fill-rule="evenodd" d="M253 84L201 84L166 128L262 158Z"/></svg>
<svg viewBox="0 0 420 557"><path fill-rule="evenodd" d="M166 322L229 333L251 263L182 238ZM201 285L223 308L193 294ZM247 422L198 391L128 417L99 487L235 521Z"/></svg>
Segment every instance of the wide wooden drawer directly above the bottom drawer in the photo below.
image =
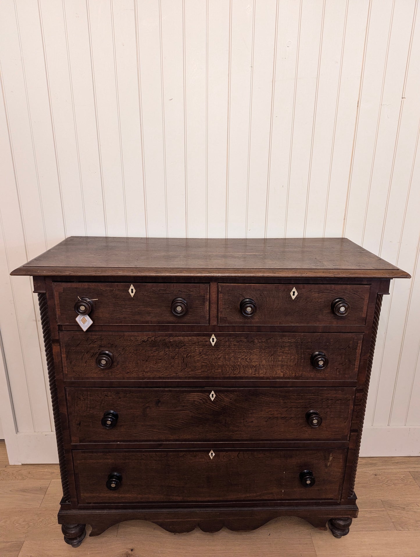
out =
<svg viewBox="0 0 420 557"><path fill-rule="evenodd" d="M66 389L73 443L347 441L354 392L325 387ZM114 415L107 429L101 420L110 410L118 418L115 422ZM317 412L312 426L308 411Z"/></svg>

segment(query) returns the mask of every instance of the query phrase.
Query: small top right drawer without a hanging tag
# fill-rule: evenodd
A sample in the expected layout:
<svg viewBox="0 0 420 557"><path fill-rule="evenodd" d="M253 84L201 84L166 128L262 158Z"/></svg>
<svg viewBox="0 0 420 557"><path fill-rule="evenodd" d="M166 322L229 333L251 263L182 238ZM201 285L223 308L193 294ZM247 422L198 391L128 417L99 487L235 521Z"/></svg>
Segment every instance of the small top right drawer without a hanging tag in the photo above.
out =
<svg viewBox="0 0 420 557"><path fill-rule="evenodd" d="M364 325L369 298L368 285L348 284L219 284L219 325ZM344 299L336 315L332 302ZM255 307L243 315L242 300ZM246 306L246 304L245 304Z"/></svg>

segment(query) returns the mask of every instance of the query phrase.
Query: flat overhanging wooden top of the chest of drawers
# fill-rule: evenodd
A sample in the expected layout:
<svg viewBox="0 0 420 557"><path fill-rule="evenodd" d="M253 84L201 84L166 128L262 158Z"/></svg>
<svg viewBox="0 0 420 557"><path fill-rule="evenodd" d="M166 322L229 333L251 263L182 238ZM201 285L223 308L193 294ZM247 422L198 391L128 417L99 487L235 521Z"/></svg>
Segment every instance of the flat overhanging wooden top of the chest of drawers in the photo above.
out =
<svg viewBox="0 0 420 557"><path fill-rule="evenodd" d="M11 275L397 278L408 273L347 238L70 236Z"/></svg>

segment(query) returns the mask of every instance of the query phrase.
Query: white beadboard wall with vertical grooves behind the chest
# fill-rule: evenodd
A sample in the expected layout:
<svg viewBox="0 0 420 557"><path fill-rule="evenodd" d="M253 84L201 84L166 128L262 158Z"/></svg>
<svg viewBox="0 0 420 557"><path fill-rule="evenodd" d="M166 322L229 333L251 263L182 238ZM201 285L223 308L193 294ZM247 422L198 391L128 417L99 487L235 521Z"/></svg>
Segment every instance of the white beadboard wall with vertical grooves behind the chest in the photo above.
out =
<svg viewBox="0 0 420 557"><path fill-rule="evenodd" d="M11 462L56 449L37 299L9 271L84 234L346 236L402 267L413 278L384 297L362 453L419 454L418 12L417 0L0 0Z"/></svg>

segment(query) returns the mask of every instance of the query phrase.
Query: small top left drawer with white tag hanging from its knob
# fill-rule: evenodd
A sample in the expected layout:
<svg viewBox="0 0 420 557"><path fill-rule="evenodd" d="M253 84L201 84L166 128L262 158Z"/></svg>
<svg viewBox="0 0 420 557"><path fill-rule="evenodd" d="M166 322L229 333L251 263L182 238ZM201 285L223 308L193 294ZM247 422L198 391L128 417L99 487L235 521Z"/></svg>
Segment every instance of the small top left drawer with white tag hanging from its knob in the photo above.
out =
<svg viewBox="0 0 420 557"><path fill-rule="evenodd" d="M89 316L95 325L209 324L208 284L55 282L54 294L59 325L75 324L79 298L93 300ZM177 298L186 302L183 315L172 313Z"/></svg>

